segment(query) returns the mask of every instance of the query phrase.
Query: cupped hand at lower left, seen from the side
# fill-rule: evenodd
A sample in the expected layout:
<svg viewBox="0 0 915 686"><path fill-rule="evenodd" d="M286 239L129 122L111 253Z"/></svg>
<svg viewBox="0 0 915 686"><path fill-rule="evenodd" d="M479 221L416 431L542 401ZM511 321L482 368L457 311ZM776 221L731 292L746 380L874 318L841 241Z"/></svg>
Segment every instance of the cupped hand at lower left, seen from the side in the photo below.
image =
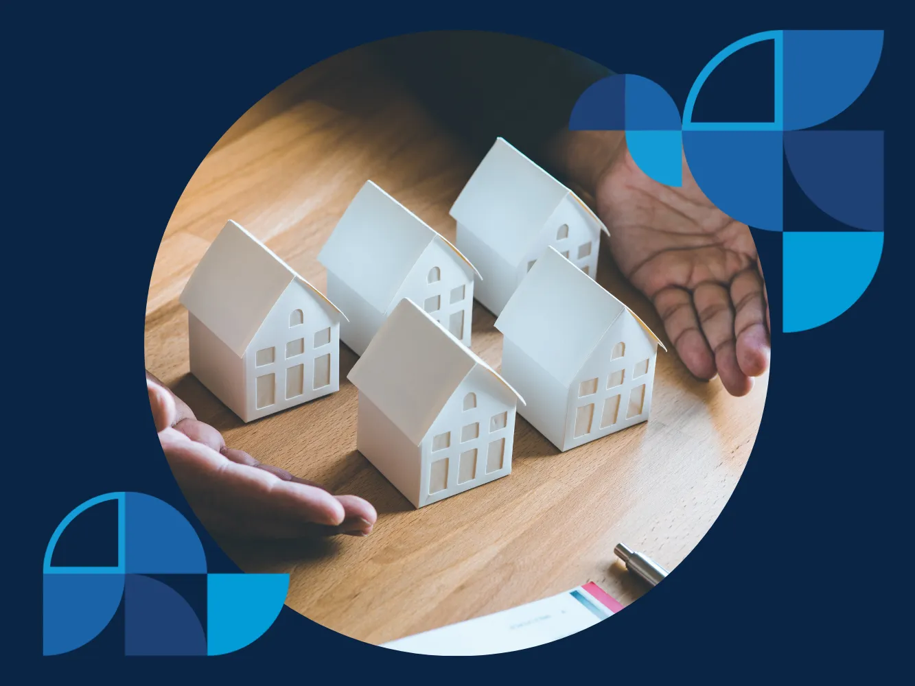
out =
<svg viewBox="0 0 915 686"><path fill-rule="evenodd" d="M378 516L367 501L333 496L285 469L227 448L216 429L200 422L149 372L146 391L168 465L208 531L269 539L371 533Z"/></svg>

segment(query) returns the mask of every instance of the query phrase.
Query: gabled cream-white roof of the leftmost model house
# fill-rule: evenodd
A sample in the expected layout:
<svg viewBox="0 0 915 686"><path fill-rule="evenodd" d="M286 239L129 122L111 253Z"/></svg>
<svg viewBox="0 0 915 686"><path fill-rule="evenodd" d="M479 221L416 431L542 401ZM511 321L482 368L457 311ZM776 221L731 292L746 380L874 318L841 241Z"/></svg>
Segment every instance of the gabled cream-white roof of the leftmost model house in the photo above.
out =
<svg viewBox="0 0 915 686"><path fill-rule="evenodd" d="M180 302L242 357L264 318L293 281L318 297L331 316L346 316L327 296L248 231L229 220L212 242Z"/></svg>

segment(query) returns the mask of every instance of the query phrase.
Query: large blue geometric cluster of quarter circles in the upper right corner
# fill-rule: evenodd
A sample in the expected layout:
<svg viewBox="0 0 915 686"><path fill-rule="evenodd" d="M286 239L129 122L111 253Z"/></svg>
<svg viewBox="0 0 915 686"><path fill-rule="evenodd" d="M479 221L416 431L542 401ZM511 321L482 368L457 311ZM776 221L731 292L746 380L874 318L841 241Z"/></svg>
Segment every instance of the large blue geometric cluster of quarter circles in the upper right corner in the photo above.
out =
<svg viewBox="0 0 915 686"><path fill-rule="evenodd" d="M772 121L694 122L696 98L738 50L771 42ZM719 52L693 83L683 123L671 96L632 74L599 80L569 120L580 131L625 131L640 169L680 186L685 155L705 196L731 218L782 233L783 328L819 327L865 292L883 251L883 132L810 130L842 113L877 70L883 31L764 31ZM782 170L835 231L786 230Z"/></svg>

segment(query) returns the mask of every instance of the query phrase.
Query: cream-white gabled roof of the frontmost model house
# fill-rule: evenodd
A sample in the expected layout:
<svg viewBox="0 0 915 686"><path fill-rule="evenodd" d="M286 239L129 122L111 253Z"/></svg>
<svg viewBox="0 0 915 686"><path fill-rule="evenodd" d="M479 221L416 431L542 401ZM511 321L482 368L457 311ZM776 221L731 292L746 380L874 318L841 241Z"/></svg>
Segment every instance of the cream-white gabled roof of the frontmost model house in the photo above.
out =
<svg viewBox="0 0 915 686"><path fill-rule="evenodd" d="M404 298L371 339L347 377L414 445L475 367L492 368L413 301Z"/></svg>

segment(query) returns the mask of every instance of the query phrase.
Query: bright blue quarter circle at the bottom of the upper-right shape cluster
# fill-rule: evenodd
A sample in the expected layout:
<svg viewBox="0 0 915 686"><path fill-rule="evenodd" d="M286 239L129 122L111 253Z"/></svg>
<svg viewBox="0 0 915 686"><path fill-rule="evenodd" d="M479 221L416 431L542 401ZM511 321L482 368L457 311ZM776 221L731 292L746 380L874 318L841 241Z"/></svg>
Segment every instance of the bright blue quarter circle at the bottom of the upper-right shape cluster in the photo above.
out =
<svg viewBox="0 0 915 686"><path fill-rule="evenodd" d="M844 313L867 290L882 252L882 231L785 232L783 330L806 331Z"/></svg>

